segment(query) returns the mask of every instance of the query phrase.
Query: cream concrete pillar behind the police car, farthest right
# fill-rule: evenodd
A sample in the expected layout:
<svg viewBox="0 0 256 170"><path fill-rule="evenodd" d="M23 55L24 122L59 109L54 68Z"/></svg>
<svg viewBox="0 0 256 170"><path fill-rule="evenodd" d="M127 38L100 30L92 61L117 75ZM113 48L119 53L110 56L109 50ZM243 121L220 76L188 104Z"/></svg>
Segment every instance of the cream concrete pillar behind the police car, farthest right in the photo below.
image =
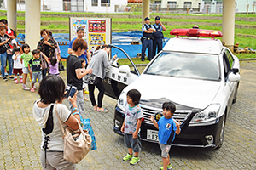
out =
<svg viewBox="0 0 256 170"><path fill-rule="evenodd" d="M233 52L235 37L235 0L223 1L222 33L222 42Z"/></svg>

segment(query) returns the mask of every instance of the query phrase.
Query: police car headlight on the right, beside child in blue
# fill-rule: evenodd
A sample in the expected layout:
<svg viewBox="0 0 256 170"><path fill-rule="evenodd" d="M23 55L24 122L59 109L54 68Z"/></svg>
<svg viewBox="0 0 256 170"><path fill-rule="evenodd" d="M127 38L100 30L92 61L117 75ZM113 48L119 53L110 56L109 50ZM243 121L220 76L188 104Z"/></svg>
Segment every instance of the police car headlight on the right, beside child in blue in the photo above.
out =
<svg viewBox="0 0 256 170"><path fill-rule="evenodd" d="M217 116L219 109L220 104L209 105L205 110L195 114L189 126L209 125L218 122Z"/></svg>

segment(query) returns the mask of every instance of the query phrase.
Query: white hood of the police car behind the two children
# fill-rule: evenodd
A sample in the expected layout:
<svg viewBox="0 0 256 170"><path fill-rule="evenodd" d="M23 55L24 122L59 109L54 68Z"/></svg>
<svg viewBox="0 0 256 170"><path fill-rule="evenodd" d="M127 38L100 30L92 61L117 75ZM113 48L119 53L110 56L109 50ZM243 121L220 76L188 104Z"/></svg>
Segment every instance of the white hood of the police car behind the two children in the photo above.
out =
<svg viewBox="0 0 256 170"><path fill-rule="evenodd" d="M125 93L137 89L142 94L142 105L159 108L163 102L172 101L179 105L177 109L204 109L212 103L219 87L218 81L143 74L125 88Z"/></svg>

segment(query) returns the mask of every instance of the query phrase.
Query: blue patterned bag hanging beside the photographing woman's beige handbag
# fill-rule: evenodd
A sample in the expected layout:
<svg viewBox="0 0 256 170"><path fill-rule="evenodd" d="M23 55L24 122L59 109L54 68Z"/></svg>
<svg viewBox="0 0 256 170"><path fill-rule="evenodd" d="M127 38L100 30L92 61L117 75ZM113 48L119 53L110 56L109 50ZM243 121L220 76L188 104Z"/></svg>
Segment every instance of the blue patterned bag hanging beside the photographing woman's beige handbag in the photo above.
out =
<svg viewBox="0 0 256 170"><path fill-rule="evenodd" d="M88 131L88 134L90 135L90 138L91 138L90 150L96 150L97 149L96 138L95 138L95 134L94 134L93 129L92 129L91 124L90 124L90 119L89 118L84 119L80 115L80 123L81 123L81 127L83 128L83 130Z"/></svg>

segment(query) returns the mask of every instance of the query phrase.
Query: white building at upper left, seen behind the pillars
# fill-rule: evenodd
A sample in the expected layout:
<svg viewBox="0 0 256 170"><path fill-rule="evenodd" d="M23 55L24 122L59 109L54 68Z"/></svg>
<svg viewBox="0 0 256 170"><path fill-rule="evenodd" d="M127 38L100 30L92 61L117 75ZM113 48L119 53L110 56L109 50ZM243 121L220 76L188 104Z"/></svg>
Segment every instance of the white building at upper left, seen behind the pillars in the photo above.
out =
<svg viewBox="0 0 256 170"><path fill-rule="evenodd" d="M3 8L7 1L3 0ZM25 3L17 0L17 10L24 11ZM115 13L124 12L126 5L127 0L41 0L41 11Z"/></svg>

